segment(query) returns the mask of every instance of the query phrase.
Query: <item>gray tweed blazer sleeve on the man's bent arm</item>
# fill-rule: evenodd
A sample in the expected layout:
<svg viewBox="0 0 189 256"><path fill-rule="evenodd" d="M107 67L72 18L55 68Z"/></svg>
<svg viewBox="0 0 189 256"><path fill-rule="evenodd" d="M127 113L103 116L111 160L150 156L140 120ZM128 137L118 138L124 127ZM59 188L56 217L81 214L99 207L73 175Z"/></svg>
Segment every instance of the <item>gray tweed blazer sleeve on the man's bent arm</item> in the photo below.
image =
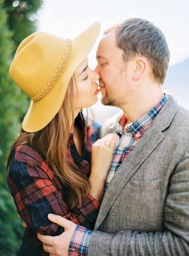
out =
<svg viewBox="0 0 189 256"><path fill-rule="evenodd" d="M169 183L164 208L166 231L116 234L93 231L88 256L188 256L189 255L189 151Z"/></svg>

